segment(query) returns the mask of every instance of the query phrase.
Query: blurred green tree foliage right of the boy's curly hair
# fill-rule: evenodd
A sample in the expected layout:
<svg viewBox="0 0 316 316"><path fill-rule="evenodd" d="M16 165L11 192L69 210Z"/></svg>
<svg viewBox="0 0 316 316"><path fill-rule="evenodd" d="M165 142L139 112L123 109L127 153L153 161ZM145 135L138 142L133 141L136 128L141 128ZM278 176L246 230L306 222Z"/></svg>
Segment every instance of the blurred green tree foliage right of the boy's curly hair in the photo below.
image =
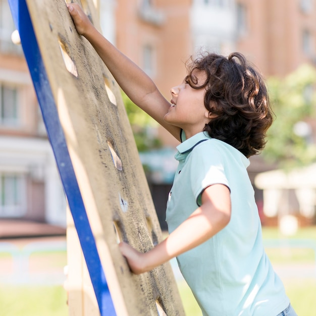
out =
<svg viewBox="0 0 316 316"><path fill-rule="evenodd" d="M262 156L280 167L292 168L316 161L316 146L312 135L300 133L295 127L309 127L308 119L315 116L314 93L316 71L302 65L285 78L268 79L270 101L275 121L268 131L268 143ZM305 131L306 132L306 131Z"/></svg>

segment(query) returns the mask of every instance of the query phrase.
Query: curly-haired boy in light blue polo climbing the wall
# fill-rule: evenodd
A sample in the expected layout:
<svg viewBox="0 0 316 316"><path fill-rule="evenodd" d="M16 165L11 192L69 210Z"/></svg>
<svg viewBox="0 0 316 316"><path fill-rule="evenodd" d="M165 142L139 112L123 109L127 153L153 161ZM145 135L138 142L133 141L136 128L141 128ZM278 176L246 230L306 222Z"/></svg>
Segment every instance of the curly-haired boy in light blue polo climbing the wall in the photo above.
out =
<svg viewBox="0 0 316 316"><path fill-rule="evenodd" d="M131 100L182 142L167 204L170 235L146 253L121 243L132 272L176 256L204 316L296 315L265 254L246 171L272 124L261 76L241 54L201 56L171 89L170 104L78 5L68 9Z"/></svg>

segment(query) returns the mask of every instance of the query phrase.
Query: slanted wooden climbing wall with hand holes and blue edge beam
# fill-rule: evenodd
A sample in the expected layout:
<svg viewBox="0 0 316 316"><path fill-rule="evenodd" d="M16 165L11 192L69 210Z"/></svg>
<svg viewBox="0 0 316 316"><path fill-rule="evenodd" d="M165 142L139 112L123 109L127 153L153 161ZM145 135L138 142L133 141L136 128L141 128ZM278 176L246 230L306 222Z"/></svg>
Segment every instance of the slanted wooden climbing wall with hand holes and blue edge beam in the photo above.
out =
<svg viewBox="0 0 316 316"><path fill-rule="evenodd" d="M99 29L92 0L76 2ZM80 244L68 251L82 251L88 278L80 253L69 274L83 280L81 291L93 288L87 300L68 286L69 313L184 315L170 264L136 276L119 251L122 240L143 252L162 241L119 86L76 32L65 0L9 4Z"/></svg>

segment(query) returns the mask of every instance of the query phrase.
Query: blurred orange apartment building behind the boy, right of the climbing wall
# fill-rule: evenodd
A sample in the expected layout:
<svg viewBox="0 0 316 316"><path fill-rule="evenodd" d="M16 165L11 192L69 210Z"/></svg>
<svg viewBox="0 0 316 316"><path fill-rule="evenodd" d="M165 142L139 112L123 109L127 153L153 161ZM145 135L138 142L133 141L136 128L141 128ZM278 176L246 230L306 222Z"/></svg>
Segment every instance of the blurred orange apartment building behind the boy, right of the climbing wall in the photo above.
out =
<svg viewBox="0 0 316 316"><path fill-rule="evenodd" d="M313 0L117 0L112 3L116 17L113 42L151 76L167 99L170 88L185 76L185 61L205 50L223 55L240 51L266 78L283 77L302 63L316 66L316 3ZM159 130L159 137L166 146L178 144L164 130ZM161 161L161 171L157 171L156 164L151 166L149 185L157 212L164 216L166 192L171 186L167 180L170 170L164 171L168 160L165 150L160 160L154 157L157 154L153 151L152 161ZM148 161L148 154L146 157L143 161ZM276 223L277 217L273 216L273 221L265 218L264 188L255 185L255 177L274 168L260 156L251 157L248 168L259 212L266 223ZM292 205L290 208L296 212L305 209L299 204L301 198L295 195L295 190L288 193L284 194L290 196L287 202ZM304 212L301 215L305 217Z"/></svg>

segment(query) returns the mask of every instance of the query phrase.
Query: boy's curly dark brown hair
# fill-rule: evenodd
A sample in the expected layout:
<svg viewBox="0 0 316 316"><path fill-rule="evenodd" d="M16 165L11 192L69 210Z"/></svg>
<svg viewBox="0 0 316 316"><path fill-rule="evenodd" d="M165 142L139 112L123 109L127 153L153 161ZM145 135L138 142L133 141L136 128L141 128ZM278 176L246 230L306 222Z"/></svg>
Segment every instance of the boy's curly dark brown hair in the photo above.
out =
<svg viewBox="0 0 316 316"><path fill-rule="evenodd" d="M186 81L194 89L205 88L204 106L213 114L203 131L241 151L257 154L266 144L273 121L268 91L261 75L239 52L227 58L203 54L187 63ZM197 85L194 70L205 71L206 80Z"/></svg>

